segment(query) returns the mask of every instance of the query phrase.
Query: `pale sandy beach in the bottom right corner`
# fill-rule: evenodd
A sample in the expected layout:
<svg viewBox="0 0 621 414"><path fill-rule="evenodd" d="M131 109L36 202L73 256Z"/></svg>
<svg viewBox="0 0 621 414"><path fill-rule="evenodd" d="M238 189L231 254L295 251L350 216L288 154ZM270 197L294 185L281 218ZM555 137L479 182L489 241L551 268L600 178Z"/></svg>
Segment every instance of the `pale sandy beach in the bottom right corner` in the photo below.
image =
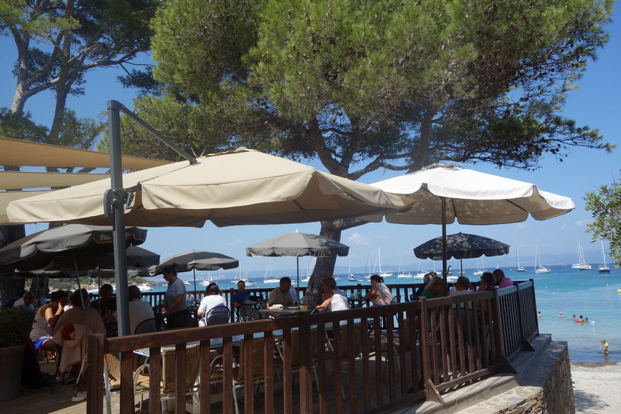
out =
<svg viewBox="0 0 621 414"><path fill-rule="evenodd" d="M571 364L577 414L621 411L621 364Z"/></svg>

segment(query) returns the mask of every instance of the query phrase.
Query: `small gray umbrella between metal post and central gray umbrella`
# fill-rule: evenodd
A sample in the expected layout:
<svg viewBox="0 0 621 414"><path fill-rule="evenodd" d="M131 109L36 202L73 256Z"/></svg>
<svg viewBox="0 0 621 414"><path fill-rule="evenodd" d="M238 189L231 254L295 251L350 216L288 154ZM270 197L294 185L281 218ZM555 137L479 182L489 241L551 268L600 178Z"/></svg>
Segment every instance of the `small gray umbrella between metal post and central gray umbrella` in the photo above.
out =
<svg viewBox="0 0 621 414"><path fill-rule="evenodd" d="M194 290L196 290L196 270L234 269L239 266L239 260L221 253L205 252L202 250L190 250L170 256L157 266L149 268L152 276L161 274L161 269L167 264L176 264L177 272L193 271Z"/></svg>

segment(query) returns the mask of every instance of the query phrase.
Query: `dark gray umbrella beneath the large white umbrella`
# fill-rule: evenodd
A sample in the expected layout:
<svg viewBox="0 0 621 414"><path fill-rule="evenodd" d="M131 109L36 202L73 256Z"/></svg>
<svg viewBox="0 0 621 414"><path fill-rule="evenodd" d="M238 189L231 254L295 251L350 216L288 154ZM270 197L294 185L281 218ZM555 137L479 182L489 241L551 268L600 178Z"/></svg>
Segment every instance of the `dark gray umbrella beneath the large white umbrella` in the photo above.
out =
<svg viewBox="0 0 621 414"><path fill-rule="evenodd" d="M460 275L463 275L462 259L474 259L486 255L500 256L509 254L509 244L498 242L489 237L457 233L446 236L446 259L460 259ZM442 237L428 240L414 248L414 255L419 259L442 260Z"/></svg>

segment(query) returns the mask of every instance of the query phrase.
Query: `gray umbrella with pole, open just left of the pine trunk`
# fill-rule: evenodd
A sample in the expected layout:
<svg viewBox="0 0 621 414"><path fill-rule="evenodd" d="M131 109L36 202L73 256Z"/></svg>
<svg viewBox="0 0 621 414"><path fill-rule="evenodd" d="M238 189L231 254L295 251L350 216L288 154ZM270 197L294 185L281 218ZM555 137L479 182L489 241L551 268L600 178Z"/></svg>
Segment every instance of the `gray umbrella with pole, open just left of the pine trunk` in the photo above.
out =
<svg viewBox="0 0 621 414"><path fill-rule="evenodd" d="M335 242L326 237L308 233L290 233L266 239L263 242L246 247L248 256L296 257L297 286L299 289L299 257L301 256L346 256L349 246Z"/></svg>

